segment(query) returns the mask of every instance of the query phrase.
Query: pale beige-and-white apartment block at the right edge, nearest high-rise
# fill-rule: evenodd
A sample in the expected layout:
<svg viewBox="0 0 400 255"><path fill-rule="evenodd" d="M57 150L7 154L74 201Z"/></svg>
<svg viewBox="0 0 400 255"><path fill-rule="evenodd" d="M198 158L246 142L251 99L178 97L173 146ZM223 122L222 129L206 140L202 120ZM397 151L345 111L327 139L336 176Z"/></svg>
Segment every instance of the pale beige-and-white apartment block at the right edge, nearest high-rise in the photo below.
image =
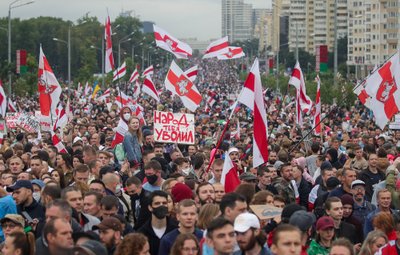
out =
<svg viewBox="0 0 400 255"><path fill-rule="evenodd" d="M398 0L349 0L347 64L365 76L396 52L400 44Z"/></svg>

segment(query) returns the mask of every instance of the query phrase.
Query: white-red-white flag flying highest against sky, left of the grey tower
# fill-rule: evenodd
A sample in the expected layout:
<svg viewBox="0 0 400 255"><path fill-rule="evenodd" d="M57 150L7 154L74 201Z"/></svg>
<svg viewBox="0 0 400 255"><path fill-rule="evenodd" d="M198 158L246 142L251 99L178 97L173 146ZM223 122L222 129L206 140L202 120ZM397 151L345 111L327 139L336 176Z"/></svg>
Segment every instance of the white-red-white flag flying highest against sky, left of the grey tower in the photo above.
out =
<svg viewBox="0 0 400 255"><path fill-rule="evenodd" d="M154 38L156 39L156 45L161 49L171 52L178 59L192 56L192 48L182 41L179 41L174 36L169 34L164 29L153 25Z"/></svg>

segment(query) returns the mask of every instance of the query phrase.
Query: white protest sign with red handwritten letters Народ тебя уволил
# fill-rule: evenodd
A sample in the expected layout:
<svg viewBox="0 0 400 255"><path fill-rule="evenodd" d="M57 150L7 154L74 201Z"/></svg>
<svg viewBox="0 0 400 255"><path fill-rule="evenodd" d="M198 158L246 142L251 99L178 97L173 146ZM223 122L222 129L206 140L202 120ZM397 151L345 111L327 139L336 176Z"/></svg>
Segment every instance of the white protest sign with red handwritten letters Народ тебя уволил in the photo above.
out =
<svg viewBox="0 0 400 255"><path fill-rule="evenodd" d="M154 111L154 140L162 143L194 144L194 115Z"/></svg>

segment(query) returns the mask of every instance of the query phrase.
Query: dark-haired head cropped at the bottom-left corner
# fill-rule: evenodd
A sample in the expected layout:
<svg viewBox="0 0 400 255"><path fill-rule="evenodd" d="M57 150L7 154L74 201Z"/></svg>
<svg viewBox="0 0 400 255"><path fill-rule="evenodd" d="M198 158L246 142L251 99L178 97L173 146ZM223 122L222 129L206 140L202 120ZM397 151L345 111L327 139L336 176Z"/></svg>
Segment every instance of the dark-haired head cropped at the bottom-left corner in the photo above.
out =
<svg viewBox="0 0 400 255"><path fill-rule="evenodd" d="M35 254L35 237L31 232L10 233L1 252L3 255L33 255Z"/></svg>

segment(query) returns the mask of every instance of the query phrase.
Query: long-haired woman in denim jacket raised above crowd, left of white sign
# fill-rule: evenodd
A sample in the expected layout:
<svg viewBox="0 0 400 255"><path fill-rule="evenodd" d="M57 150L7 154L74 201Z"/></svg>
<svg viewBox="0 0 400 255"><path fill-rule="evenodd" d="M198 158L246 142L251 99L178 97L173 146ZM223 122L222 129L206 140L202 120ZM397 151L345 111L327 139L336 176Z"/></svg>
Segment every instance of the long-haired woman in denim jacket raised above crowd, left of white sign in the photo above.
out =
<svg viewBox="0 0 400 255"><path fill-rule="evenodd" d="M122 142L129 162L142 163L142 129L139 118L132 116L128 122L128 132Z"/></svg>

